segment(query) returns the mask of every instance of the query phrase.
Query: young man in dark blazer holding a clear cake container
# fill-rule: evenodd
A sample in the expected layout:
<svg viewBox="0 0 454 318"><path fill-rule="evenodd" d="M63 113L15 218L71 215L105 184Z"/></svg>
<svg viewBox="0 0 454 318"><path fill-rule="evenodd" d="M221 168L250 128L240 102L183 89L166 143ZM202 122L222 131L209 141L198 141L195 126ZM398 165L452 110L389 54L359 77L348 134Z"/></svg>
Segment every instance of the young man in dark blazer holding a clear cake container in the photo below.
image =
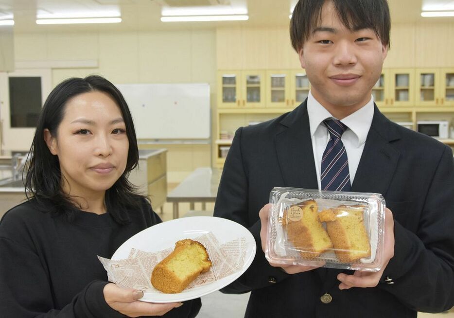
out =
<svg viewBox="0 0 454 318"><path fill-rule="evenodd" d="M252 291L246 317L416 318L454 304L453 152L374 105L389 29L386 0L300 0L295 7L291 38L311 93L295 110L237 130L214 209L256 238L253 264L223 290ZM263 254L273 187L332 190L320 177L331 139L325 120L332 119L344 127L348 162L337 189L386 200L379 272L279 267Z"/></svg>

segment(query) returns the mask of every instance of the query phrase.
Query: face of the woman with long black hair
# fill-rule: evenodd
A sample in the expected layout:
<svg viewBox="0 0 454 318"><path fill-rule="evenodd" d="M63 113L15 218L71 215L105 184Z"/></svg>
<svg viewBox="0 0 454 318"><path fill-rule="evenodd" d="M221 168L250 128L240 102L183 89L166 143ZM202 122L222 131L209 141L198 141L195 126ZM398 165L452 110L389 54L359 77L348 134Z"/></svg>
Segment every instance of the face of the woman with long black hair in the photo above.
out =
<svg viewBox="0 0 454 318"><path fill-rule="evenodd" d="M58 156L63 191L71 196L104 195L126 168L126 126L120 107L104 92L70 99L56 136L46 129L44 138Z"/></svg>

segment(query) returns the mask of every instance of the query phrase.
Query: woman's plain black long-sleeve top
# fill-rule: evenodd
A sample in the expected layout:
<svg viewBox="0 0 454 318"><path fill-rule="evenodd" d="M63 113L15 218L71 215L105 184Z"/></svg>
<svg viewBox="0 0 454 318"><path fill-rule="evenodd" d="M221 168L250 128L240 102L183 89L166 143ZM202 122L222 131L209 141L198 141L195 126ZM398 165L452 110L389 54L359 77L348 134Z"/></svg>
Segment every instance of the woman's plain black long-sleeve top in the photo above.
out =
<svg viewBox="0 0 454 318"><path fill-rule="evenodd" d="M120 225L109 213L79 211L74 219L39 212L35 200L0 221L0 316L2 318L125 317L104 299L107 273L97 255L111 258L124 241L162 222L143 200ZM164 317L195 317L200 299Z"/></svg>

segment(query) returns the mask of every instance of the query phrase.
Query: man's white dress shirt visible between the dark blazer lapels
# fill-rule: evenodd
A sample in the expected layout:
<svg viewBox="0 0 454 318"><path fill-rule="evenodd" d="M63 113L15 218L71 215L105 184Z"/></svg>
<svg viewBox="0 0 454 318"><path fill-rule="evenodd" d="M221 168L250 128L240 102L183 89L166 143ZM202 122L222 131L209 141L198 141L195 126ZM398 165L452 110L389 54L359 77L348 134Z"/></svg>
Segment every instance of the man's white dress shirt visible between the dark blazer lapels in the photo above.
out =
<svg viewBox="0 0 454 318"><path fill-rule="evenodd" d="M307 112L309 115L318 189L321 189L320 170L322 157L326 145L330 141L330 134L323 121L334 117L325 107L315 100L311 92L309 92L307 100ZM371 96L370 101L365 106L341 120L348 127L342 135L341 141L344 143L347 158L349 159L350 184L353 184L373 116L374 100Z"/></svg>

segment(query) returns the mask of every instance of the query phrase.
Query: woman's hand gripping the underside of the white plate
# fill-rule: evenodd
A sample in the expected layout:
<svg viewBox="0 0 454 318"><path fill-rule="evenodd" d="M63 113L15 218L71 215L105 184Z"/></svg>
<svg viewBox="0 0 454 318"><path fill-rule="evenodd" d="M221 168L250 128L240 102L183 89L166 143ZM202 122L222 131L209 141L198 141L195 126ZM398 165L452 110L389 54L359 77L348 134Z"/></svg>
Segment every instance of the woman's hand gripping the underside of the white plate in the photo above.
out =
<svg viewBox="0 0 454 318"><path fill-rule="evenodd" d="M152 303L138 299L143 297L143 292L133 288L122 288L114 283L104 286L104 299L116 311L128 317L162 316L171 309L183 305L181 302Z"/></svg>

